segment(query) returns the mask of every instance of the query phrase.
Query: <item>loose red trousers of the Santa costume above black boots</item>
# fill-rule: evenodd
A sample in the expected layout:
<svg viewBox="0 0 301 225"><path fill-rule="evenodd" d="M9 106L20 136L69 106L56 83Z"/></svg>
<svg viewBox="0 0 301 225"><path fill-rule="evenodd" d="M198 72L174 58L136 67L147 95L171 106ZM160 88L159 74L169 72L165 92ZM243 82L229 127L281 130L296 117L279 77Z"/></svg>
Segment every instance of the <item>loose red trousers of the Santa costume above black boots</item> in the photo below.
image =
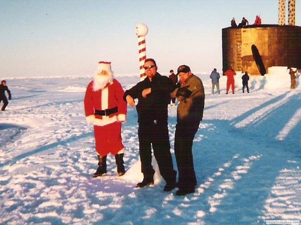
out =
<svg viewBox="0 0 301 225"><path fill-rule="evenodd" d="M105 126L94 126L95 148L98 155L108 153L116 155L124 148L121 139L121 122L114 122Z"/></svg>

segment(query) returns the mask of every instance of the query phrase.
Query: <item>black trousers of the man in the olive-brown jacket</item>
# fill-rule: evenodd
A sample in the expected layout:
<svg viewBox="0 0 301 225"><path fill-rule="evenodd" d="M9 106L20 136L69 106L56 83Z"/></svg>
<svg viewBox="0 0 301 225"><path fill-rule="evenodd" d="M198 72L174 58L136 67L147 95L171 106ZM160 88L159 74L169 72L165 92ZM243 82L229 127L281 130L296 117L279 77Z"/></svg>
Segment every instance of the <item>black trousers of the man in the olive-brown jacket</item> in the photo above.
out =
<svg viewBox="0 0 301 225"><path fill-rule="evenodd" d="M197 178L194 172L192 144L200 121L180 122L175 126L175 158L177 160L179 189L194 188Z"/></svg>

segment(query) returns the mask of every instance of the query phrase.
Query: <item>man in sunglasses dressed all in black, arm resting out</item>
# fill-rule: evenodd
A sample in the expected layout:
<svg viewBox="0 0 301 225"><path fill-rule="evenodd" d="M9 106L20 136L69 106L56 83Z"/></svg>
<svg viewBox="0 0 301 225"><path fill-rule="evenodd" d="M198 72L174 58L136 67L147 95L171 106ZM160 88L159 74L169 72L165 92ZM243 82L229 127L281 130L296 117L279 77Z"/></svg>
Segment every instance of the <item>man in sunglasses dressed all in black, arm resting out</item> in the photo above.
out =
<svg viewBox="0 0 301 225"><path fill-rule="evenodd" d="M167 105L170 102L170 93L174 89L172 81L157 73L157 64L154 59L147 58L144 62L147 77L127 90L123 99L130 106L136 106L138 113L139 155L143 181L136 187L154 184L154 169L152 167L151 145L157 160L160 174L166 181L164 191L175 188L176 171L173 169L172 156L167 124Z"/></svg>

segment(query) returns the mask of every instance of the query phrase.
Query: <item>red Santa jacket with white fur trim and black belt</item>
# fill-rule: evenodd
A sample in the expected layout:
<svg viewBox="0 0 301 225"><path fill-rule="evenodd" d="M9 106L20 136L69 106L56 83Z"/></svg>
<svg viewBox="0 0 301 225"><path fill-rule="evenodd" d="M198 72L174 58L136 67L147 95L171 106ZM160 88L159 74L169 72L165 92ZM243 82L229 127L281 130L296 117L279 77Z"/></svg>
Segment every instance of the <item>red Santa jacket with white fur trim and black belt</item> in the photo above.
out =
<svg viewBox="0 0 301 225"><path fill-rule="evenodd" d="M116 121L125 121L127 103L123 100L123 95L123 88L116 79L98 91L93 91L93 81L91 81L88 84L84 99L85 115L88 123L105 126ZM95 110L106 110L114 107L118 107L117 112L109 116L95 115Z"/></svg>

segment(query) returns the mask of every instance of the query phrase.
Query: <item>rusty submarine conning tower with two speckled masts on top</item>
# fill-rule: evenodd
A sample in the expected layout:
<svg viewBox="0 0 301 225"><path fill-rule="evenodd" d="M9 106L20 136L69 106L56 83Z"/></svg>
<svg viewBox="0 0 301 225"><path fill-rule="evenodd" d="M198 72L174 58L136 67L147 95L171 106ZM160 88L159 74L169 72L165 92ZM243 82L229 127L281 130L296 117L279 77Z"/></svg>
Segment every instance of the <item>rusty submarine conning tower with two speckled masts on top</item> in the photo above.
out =
<svg viewBox="0 0 301 225"><path fill-rule="evenodd" d="M289 1L289 25L284 24L285 0L279 0L278 17L278 25L222 29L223 72L231 66L263 76L271 66L301 68L301 27L294 26L295 0Z"/></svg>

